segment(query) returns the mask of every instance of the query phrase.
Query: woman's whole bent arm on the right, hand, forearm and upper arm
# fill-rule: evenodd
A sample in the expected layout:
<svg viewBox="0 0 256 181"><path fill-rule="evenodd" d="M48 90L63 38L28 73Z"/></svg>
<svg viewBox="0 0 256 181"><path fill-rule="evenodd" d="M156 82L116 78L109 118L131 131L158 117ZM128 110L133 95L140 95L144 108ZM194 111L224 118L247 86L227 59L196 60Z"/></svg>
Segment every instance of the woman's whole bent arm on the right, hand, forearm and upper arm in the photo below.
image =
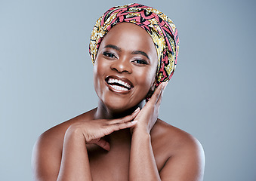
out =
<svg viewBox="0 0 256 181"><path fill-rule="evenodd" d="M204 152L201 144L188 133L180 133L177 145L168 146L170 157L160 173L153 155L150 130L155 124L166 84L158 87L150 101L141 109L134 120L137 124L131 128L131 155L129 180L174 180L199 181L203 178ZM167 135L168 136L168 135ZM174 139L165 137L163 139ZM161 141L161 140L159 140ZM173 143L173 142L172 142Z"/></svg>

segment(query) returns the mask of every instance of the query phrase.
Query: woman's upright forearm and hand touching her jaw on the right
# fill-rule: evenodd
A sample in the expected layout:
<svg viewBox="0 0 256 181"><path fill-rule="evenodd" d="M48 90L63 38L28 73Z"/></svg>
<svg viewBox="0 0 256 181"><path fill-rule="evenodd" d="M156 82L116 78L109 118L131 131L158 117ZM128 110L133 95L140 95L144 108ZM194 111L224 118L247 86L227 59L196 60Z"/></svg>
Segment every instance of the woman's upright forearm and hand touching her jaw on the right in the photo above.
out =
<svg viewBox="0 0 256 181"><path fill-rule="evenodd" d="M159 85L151 99L134 119L137 124L131 128L129 180L161 180L151 146L150 130L159 115L159 106L166 85L167 82Z"/></svg>

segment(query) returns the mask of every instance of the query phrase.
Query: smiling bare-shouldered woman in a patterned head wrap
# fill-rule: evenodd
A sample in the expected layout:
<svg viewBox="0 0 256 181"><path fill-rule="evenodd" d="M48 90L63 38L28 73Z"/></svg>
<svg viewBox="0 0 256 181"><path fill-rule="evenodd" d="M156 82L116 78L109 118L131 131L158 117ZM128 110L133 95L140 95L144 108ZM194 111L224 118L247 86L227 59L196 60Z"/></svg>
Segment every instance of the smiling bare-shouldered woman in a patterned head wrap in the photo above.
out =
<svg viewBox="0 0 256 181"><path fill-rule="evenodd" d="M90 42L98 106L39 137L35 180L202 180L200 143L157 118L177 52L177 30L160 11L106 11Z"/></svg>

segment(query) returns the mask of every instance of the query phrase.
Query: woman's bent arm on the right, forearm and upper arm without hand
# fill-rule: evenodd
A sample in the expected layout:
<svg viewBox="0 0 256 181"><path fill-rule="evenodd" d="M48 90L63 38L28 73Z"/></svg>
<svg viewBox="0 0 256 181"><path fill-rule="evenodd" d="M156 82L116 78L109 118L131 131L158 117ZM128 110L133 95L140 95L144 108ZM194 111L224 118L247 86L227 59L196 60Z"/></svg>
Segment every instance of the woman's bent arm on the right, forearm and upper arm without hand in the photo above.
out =
<svg viewBox="0 0 256 181"><path fill-rule="evenodd" d="M170 137L170 139L172 138ZM133 133L130 180L202 181L205 155L201 144L188 134L184 134L181 142L174 151L175 154L168 158L159 173L153 155L150 134L143 133L142 130ZM174 148L170 146L167 150L171 149Z"/></svg>

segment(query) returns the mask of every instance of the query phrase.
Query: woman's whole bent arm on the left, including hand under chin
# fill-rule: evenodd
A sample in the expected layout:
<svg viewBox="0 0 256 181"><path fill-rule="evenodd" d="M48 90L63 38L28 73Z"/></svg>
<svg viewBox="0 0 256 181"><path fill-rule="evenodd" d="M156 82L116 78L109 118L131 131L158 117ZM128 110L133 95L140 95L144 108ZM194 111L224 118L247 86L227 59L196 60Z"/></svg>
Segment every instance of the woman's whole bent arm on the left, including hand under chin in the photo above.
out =
<svg viewBox="0 0 256 181"><path fill-rule="evenodd" d="M138 111L135 111L124 118L114 120L77 122L66 130L63 141L58 138L53 142L51 139L56 139L56 135L43 135L35 144L32 155L35 180L92 180L85 143L94 143L109 150L109 143L101 138L115 130L134 126L136 121L132 120L137 113ZM63 144L63 150L57 149L62 148L58 144Z"/></svg>

